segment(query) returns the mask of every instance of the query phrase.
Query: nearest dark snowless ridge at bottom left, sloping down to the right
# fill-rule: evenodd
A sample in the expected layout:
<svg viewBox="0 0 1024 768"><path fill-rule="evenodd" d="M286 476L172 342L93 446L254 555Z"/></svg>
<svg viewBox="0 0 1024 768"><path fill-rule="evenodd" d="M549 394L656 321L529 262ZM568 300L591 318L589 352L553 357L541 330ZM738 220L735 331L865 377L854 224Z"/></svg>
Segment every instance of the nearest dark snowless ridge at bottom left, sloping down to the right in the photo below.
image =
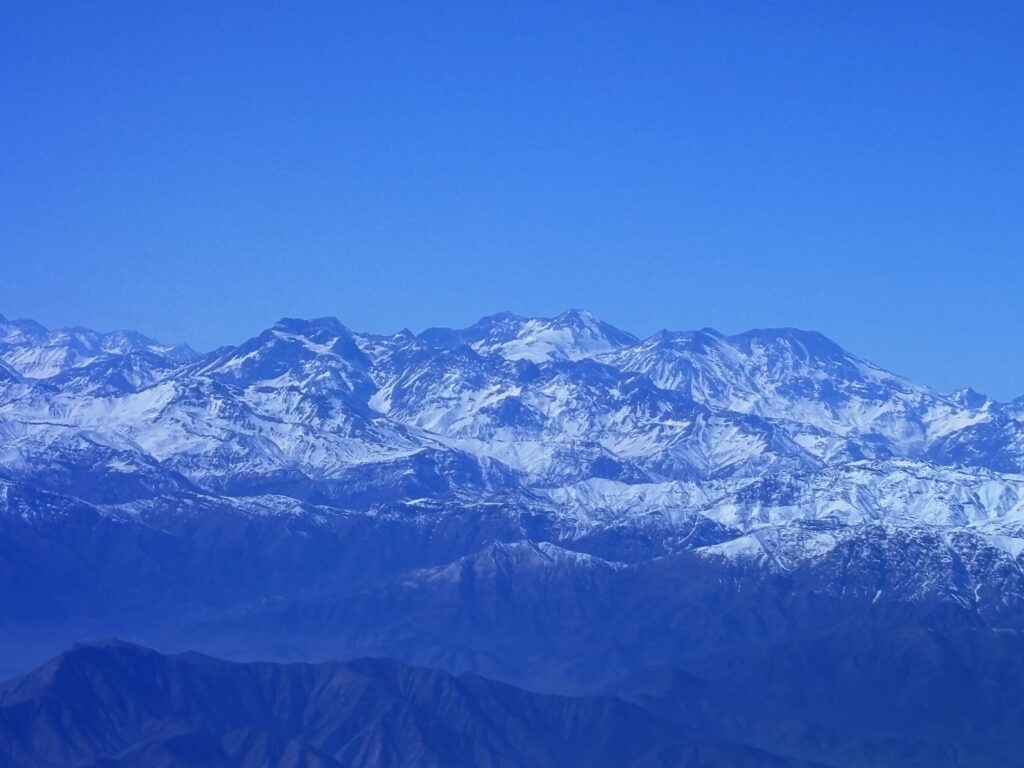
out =
<svg viewBox="0 0 1024 768"><path fill-rule="evenodd" d="M49 768L810 766L612 696L388 659L236 664L113 642L0 686L0 764Z"/></svg>

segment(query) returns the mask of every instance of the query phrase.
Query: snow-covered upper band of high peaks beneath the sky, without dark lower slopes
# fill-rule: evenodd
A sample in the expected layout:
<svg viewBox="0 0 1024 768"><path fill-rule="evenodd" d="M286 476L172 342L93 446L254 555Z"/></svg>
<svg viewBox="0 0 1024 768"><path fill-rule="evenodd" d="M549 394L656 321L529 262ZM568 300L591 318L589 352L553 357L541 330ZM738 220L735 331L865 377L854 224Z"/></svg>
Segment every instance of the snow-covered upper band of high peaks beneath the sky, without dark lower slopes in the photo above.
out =
<svg viewBox="0 0 1024 768"><path fill-rule="evenodd" d="M937 394L817 333L639 340L580 310L393 336L283 319L206 355L29 321L0 333L0 466L44 486L155 474L357 507L400 500L404 477L404 501L515 495L574 529L1024 520L1019 403Z"/></svg>

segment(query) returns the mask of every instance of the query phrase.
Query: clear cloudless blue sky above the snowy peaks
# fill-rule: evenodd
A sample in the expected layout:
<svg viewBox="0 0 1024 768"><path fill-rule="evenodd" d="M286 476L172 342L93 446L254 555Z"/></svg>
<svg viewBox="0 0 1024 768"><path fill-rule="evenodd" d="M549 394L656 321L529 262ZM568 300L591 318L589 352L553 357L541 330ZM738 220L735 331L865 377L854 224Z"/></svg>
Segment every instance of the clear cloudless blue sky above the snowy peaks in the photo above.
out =
<svg viewBox="0 0 1024 768"><path fill-rule="evenodd" d="M1024 393L1024 3L7 2L0 313L586 307Z"/></svg>

